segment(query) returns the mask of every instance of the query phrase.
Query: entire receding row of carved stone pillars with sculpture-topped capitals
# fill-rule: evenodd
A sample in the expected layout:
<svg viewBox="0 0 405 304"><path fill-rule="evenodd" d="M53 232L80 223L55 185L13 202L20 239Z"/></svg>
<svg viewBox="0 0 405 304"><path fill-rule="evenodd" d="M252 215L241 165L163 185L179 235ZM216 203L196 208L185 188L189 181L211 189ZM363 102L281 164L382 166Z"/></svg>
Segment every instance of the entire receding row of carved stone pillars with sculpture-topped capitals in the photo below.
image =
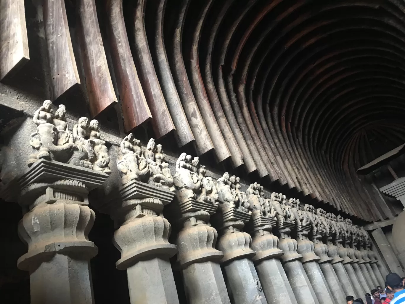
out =
<svg viewBox="0 0 405 304"><path fill-rule="evenodd" d="M384 284L368 234L350 219L282 193L266 197L258 183L242 191L229 173L214 180L186 153L172 174L162 146L150 139L143 148L132 133L110 168L98 122L81 118L70 131L65 113L49 101L34 113L28 169L3 192L23 208L28 253L18 267L30 272L32 303L60 302L59 290L63 303L94 302L88 193L115 169L120 186L96 208L115 223L116 267L127 271L132 304L179 303L175 255L190 304L338 304Z"/></svg>

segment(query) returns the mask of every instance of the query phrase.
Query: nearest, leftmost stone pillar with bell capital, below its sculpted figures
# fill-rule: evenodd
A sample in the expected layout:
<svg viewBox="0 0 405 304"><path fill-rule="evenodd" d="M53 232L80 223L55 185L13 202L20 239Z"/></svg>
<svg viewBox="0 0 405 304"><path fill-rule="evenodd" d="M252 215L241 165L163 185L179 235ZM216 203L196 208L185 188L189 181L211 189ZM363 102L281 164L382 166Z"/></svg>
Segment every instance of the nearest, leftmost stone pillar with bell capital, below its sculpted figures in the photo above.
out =
<svg viewBox="0 0 405 304"><path fill-rule="evenodd" d="M32 304L94 302L90 259L98 249L87 238L95 219L87 194L107 177L41 159L18 180L24 212L18 230L28 244L18 268L30 272Z"/></svg>

